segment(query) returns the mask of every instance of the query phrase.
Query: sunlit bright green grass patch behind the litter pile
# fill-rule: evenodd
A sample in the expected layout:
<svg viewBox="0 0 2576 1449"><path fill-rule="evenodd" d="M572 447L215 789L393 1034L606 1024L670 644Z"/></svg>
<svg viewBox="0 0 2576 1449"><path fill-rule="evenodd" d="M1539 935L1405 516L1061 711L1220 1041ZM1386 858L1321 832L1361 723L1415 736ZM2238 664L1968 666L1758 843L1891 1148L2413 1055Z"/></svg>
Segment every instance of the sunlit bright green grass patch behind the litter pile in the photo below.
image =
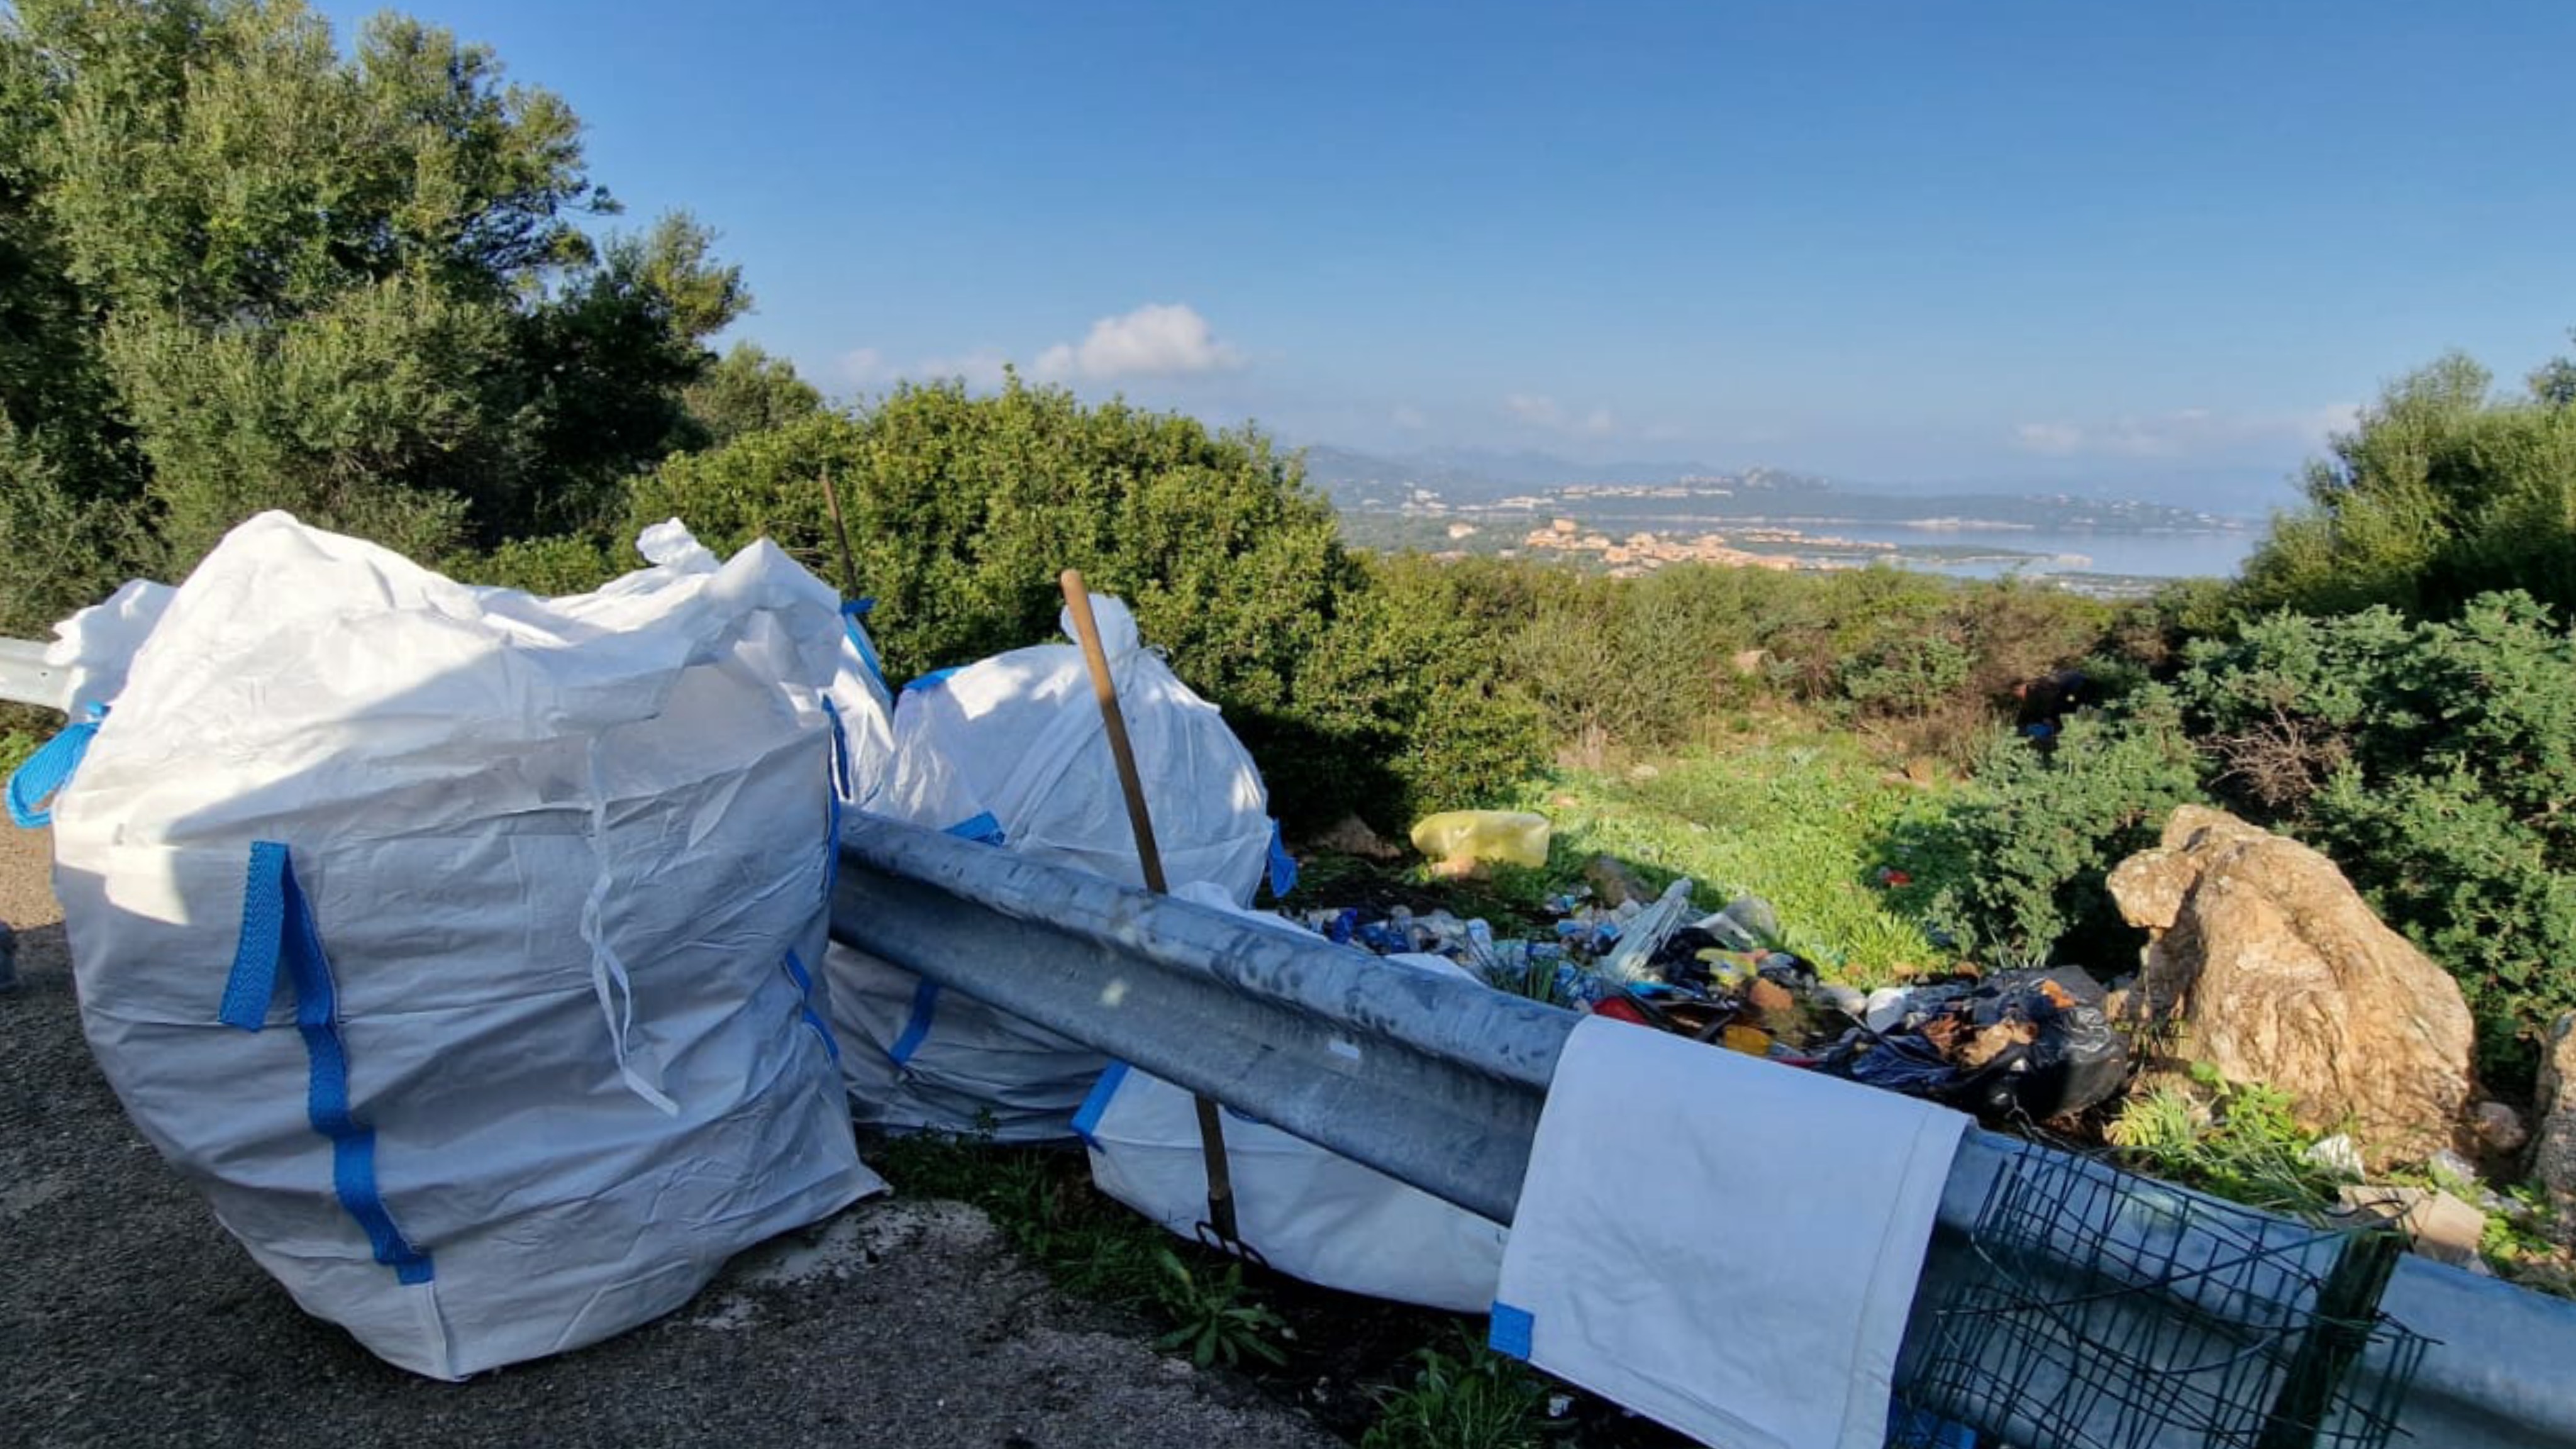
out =
<svg viewBox="0 0 2576 1449"><path fill-rule="evenodd" d="M1790 730L1628 771L1556 771L1520 799L1556 825L1535 884L1579 882L1592 856L1618 856L1646 884L1695 882L1723 908L1752 892L1780 913L1785 946L1826 975L1875 985L1950 962L1914 910L1955 861L1891 853L1904 825L1929 825L1960 784L1891 784L1888 763L1855 735ZM1896 866L1911 884L1878 884ZM1533 871L1535 874L1535 871ZM1507 871L1494 887L1530 890Z"/></svg>

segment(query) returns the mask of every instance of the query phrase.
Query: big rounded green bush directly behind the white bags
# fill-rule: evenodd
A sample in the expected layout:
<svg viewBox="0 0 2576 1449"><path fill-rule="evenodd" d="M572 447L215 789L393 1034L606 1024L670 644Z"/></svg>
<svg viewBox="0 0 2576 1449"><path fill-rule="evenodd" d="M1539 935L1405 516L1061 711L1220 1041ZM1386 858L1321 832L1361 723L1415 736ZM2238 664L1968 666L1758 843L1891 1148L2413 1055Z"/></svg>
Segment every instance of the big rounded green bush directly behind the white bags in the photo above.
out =
<svg viewBox="0 0 2576 1449"><path fill-rule="evenodd" d="M1296 820L1394 822L1517 779L1543 745L1468 596L1437 572L1378 588L1296 459L1249 428L1018 376L992 397L899 387L665 462L634 485L626 536L677 516L719 552L768 536L837 578L824 472L896 678L1056 639L1056 575L1079 567L1224 706ZM559 578L554 557L507 562Z"/></svg>

